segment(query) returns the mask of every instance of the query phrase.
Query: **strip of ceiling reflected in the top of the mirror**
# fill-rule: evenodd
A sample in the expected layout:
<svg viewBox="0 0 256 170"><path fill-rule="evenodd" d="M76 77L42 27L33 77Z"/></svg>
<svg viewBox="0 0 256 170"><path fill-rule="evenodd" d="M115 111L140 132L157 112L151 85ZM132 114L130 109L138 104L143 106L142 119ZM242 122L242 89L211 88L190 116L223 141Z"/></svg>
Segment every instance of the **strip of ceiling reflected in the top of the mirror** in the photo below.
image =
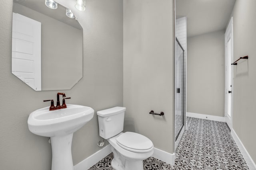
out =
<svg viewBox="0 0 256 170"><path fill-rule="evenodd" d="M57 9L52 10L44 4L45 0L13 0L13 2L26 6L34 11L40 12L41 14L54 18L55 20L61 21L75 28L82 29L77 20L66 16L66 7L60 4L58 4Z"/></svg>

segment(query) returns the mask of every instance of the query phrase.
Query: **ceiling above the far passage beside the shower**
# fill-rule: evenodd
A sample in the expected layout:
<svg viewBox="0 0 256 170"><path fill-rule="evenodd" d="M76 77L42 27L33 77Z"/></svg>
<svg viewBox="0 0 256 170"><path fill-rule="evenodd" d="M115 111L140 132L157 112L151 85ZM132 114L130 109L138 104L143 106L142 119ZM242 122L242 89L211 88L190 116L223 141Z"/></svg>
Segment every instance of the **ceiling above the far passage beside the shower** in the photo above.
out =
<svg viewBox="0 0 256 170"><path fill-rule="evenodd" d="M187 37L226 28L236 0L176 0L176 18L187 17Z"/></svg>

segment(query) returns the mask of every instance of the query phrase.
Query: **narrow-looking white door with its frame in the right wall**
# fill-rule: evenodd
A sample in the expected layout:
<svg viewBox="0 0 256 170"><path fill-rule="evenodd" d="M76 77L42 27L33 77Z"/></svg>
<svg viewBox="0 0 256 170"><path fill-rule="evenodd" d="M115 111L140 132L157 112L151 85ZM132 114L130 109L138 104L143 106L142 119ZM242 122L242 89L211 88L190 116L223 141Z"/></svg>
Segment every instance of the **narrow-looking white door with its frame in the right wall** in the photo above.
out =
<svg viewBox="0 0 256 170"><path fill-rule="evenodd" d="M232 129L232 104L233 104L233 18L228 23L225 32L225 120Z"/></svg>

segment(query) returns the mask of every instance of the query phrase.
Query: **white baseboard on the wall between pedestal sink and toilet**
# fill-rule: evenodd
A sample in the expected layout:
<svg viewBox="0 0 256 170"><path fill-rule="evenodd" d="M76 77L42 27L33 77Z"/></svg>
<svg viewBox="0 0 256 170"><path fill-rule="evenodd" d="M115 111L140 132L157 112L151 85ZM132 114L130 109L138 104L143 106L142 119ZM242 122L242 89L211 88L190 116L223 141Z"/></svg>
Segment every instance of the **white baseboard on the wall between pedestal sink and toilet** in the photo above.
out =
<svg viewBox="0 0 256 170"><path fill-rule="evenodd" d="M92 166L94 166L97 162L102 160L105 156L110 154L112 151L110 150L110 145L98 150L88 158L82 160L78 164L74 166L74 170L88 170Z"/></svg>

